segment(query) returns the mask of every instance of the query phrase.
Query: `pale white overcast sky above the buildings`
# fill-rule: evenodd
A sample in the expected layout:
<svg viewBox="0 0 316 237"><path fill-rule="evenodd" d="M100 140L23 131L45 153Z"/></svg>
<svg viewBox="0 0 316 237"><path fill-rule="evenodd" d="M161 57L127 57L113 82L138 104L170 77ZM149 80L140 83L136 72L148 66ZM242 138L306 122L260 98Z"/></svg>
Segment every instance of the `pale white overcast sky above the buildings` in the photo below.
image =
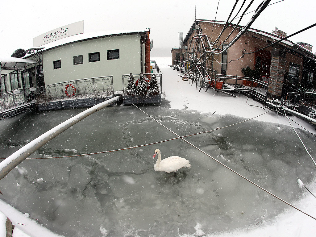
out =
<svg viewBox="0 0 316 237"><path fill-rule="evenodd" d="M262 0L255 0L247 12L255 10L260 2ZM42 33L82 20L85 33L150 27L150 38L154 42L152 56L171 57L171 49L179 47L178 32L182 31L185 36L194 22L195 5L197 19L214 20L217 3L218 0L2 1L0 57L9 57L18 48L32 47L33 38ZM235 0L220 0L216 20L226 21L234 3ZM315 10L315 0L284 0L268 6L252 27L271 33L276 26L289 35L315 23ZM240 24L245 25L252 14L245 15ZM309 43L315 46L315 52L315 36L316 27L313 27L289 40Z"/></svg>

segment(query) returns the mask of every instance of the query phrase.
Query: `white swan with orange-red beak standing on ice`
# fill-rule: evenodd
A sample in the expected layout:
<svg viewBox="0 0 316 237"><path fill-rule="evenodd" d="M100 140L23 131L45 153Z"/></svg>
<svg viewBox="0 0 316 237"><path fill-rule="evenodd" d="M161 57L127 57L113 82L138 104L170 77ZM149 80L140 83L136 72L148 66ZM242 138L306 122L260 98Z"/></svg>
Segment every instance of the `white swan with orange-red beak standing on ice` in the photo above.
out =
<svg viewBox="0 0 316 237"><path fill-rule="evenodd" d="M178 169L182 167L190 168L190 161L181 158L179 156L170 156L161 161L161 153L159 149L155 149L155 154L153 158L158 154L158 159L154 165L155 171L165 171L167 173L176 172Z"/></svg>

